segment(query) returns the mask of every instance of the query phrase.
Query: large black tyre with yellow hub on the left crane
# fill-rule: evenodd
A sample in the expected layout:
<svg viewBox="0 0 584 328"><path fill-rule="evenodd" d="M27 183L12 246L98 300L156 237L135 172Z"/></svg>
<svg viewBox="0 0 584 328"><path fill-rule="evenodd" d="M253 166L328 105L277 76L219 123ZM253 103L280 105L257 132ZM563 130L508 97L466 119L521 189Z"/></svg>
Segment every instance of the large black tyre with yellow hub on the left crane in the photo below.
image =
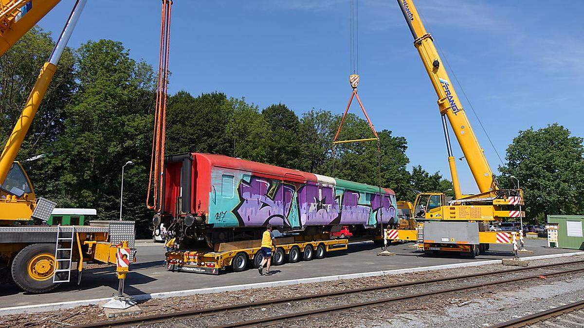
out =
<svg viewBox="0 0 584 328"><path fill-rule="evenodd" d="M55 268L55 246L32 244L26 246L12 261L12 279L18 287L27 292L48 292L58 286L53 283Z"/></svg>

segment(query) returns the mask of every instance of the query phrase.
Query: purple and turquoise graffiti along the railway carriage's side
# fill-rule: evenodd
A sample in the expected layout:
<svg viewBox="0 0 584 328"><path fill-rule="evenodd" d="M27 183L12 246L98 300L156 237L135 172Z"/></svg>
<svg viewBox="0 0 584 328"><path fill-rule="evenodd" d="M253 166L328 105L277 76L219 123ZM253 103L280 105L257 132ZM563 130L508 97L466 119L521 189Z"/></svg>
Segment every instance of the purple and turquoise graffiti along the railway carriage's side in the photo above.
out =
<svg viewBox="0 0 584 328"><path fill-rule="evenodd" d="M237 182L237 175L223 172L221 179L216 180L221 183L221 197L212 196L218 201L212 202L217 206L211 206L210 218L221 220L210 223L237 221L239 226L272 224L293 229L308 225L395 223L396 204L392 194L383 193L380 197L379 193L324 183L284 182L247 174L241 175ZM231 191L235 186L237 191ZM225 211L228 208L231 210Z"/></svg>

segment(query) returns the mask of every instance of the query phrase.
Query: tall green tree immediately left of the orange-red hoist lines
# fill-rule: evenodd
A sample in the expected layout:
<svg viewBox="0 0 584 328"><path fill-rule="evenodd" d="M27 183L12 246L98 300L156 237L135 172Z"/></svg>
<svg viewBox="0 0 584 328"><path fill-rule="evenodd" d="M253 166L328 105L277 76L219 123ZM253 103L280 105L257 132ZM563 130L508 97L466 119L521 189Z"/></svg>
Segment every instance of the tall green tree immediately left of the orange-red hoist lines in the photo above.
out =
<svg viewBox="0 0 584 328"><path fill-rule="evenodd" d="M152 138L154 81L148 65L135 62L112 40L88 41L77 51L78 91L54 148L46 160L58 176L43 190L59 206L90 207L99 219L115 219L119 211L121 166L124 218L140 228L152 213L144 206Z"/></svg>

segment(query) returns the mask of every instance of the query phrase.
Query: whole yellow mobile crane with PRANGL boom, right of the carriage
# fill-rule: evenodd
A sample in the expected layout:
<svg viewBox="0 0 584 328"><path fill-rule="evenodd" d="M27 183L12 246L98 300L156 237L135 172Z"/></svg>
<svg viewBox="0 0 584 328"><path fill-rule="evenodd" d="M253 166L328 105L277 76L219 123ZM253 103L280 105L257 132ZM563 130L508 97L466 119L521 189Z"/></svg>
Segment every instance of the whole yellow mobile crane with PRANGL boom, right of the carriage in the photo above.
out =
<svg viewBox="0 0 584 328"><path fill-rule="evenodd" d="M510 233L489 232L488 223L523 217L524 212L517 210L519 205L523 205L522 191L499 188L434 46L434 40L426 31L413 1L397 1L412 33L413 44L438 96L455 197L447 201L443 193L419 193L412 205L402 204L403 209L412 211L413 218L418 221L418 229L394 230L390 236L401 240L416 239L420 249L426 251L455 251L471 253L473 256L488 249L489 243L511 243ZM464 195L460 191L447 122L460 144L479 194Z"/></svg>

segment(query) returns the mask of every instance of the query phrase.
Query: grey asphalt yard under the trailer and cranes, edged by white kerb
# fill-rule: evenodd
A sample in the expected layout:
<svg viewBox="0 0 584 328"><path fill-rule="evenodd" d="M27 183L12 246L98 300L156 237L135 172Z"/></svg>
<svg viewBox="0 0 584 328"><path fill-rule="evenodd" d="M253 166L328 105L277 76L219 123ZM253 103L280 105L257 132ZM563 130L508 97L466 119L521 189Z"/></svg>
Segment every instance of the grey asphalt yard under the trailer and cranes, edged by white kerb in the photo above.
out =
<svg viewBox="0 0 584 328"><path fill-rule="evenodd" d="M166 271L162 261L164 257L162 244L141 240L136 243L138 262L130 267L131 272L126 280L126 293L137 295L512 257L512 253L509 252L510 245L491 245L489 252L476 259L461 258L454 254L426 256L416 252L411 245L413 244L390 246L391 252L396 253L396 256L383 257L377 256L380 249L373 243L353 243L349 245L348 250L329 253L328 257L322 260L300 261L272 267L275 274L270 276L260 276L257 270L228 272L217 276ZM526 239L526 248L532 250L533 253L523 253L521 256L575 252L570 249L548 249L544 247L545 245L547 245L546 240ZM114 267L84 270L79 286L76 284L77 274L74 273L71 281L75 282L62 284L54 291L40 295L22 292L13 285L0 285L0 308L110 297L117 291L118 285L114 271Z"/></svg>

